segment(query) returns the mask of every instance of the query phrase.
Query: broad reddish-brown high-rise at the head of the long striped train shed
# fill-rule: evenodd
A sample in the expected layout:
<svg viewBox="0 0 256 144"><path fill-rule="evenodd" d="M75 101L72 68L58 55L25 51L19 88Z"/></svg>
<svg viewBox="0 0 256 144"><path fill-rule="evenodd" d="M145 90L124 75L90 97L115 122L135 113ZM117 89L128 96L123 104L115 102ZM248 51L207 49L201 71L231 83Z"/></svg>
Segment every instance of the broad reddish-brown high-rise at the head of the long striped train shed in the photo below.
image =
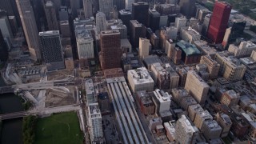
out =
<svg viewBox="0 0 256 144"><path fill-rule="evenodd" d="M100 34L100 62L103 70L121 67L121 40L118 30L102 31Z"/></svg>

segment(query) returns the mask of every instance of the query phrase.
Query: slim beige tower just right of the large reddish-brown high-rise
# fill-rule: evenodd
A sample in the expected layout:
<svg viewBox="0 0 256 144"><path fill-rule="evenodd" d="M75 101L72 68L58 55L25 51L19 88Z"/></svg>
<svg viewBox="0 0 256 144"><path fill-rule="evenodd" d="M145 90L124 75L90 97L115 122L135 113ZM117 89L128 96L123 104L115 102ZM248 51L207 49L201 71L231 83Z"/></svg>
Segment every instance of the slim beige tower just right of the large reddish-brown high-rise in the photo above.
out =
<svg viewBox="0 0 256 144"><path fill-rule="evenodd" d="M145 58L150 54L150 40L139 38L138 55L140 58Z"/></svg>

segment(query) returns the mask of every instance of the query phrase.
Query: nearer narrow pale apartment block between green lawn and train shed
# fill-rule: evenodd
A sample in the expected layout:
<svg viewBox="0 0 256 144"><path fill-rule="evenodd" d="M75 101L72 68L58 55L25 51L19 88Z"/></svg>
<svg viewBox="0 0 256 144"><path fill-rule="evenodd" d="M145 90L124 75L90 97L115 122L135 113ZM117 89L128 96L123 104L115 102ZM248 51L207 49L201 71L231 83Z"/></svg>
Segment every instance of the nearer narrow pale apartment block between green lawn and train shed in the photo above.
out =
<svg viewBox="0 0 256 144"><path fill-rule="evenodd" d="M97 142L103 138L102 114L99 110L98 102L91 103L88 106L88 126L90 131L90 140Z"/></svg>

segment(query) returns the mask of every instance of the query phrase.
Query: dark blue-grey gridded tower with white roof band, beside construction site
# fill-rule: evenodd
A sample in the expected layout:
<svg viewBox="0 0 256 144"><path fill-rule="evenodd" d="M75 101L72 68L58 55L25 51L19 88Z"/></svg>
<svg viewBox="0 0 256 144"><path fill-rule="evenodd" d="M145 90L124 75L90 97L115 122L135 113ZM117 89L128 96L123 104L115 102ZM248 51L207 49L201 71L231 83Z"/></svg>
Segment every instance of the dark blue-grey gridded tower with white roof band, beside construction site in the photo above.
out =
<svg viewBox="0 0 256 144"><path fill-rule="evenodd" d="M39 33L42 50L42 60L47 65L47 70L64 69L61 38L58 30Z"/></svg>

